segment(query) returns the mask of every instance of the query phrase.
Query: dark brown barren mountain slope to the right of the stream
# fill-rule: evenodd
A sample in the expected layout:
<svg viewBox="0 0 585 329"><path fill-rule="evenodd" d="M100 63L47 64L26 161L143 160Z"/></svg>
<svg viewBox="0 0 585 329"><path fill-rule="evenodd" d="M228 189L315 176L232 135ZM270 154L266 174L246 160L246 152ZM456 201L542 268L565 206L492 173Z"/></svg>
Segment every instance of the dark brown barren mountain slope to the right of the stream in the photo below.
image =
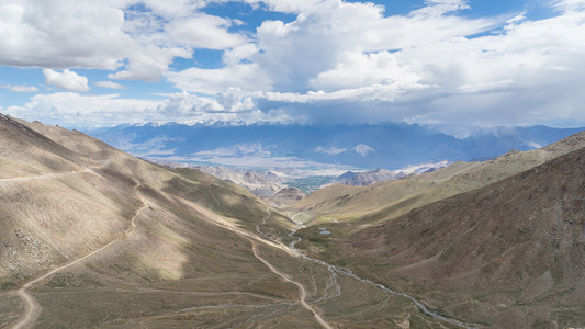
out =
<svg viewBox="0 0 585 329"><path fill-rule="evenodd" d="M585 148L336 243L323 240L322 256L469 322L582 327L584 200Z"/></svg>

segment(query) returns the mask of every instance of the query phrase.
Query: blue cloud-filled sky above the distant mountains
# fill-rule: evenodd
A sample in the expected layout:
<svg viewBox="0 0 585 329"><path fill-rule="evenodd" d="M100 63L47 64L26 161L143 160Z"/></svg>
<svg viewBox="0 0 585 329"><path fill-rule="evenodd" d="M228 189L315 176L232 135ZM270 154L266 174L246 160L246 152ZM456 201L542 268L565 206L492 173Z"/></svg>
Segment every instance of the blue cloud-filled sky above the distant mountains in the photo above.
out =
<svg viewBox="0 0 585 329"><path fill-rule="evenodd" d="M585 0L2 0L0 112L585 126Z"/></svg>

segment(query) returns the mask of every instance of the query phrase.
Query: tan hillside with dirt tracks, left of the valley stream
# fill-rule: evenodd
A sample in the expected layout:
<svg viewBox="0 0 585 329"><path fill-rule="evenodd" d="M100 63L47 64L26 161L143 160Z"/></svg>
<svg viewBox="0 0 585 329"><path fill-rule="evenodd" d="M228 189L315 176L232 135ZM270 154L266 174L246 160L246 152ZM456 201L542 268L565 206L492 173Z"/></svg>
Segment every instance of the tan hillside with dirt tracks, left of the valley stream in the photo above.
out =
<svg viewBox="0 0 585 329"><path fill-rule="evenodd" d="M303 258L233 183L37 122L0 134L0 327L457 327Z"/></svg>

